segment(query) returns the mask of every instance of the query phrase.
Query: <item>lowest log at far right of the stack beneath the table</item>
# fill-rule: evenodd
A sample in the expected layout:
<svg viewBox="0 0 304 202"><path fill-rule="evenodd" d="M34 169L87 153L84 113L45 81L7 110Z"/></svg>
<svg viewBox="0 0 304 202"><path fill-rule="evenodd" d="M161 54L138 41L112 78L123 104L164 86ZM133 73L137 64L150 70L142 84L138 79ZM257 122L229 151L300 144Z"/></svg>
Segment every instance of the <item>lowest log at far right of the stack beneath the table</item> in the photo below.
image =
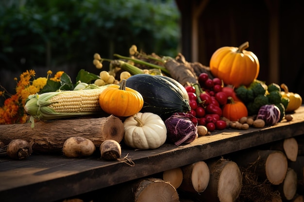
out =
<svg viewBox="0 0 304 202"><path fill-rule="evenodd" d="M297 173L293 169L288 168L283 183L278 185L277 188L283 200L293 199L297 193L297 184Z"/></svg>

